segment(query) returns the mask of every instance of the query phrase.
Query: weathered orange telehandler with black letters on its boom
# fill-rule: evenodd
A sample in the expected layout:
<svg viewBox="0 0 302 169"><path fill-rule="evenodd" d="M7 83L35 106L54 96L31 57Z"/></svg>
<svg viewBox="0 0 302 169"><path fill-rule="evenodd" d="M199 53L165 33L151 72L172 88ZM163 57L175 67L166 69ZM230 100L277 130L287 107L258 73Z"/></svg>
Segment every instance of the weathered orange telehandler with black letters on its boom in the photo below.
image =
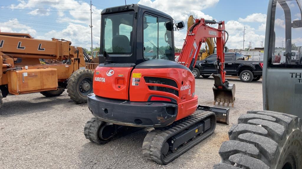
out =
<svg viewBox="0 0 302 169"><path fill-rule="evenodd" d="M64 39L47 41L0 32L0 107L9 93L40 92L53 97L66 88L76 103L87 102L87 95L93 92L93 71L86 69L86 57L82 48Z"/></svg>

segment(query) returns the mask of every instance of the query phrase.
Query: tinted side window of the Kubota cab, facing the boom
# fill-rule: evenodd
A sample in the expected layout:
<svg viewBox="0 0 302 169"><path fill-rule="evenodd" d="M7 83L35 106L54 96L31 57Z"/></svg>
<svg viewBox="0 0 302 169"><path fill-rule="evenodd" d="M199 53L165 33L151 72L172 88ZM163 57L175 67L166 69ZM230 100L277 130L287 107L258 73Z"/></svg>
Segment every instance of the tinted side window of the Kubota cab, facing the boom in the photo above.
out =
<svg viewBox="0 0 302 169"><path fill-rule="evenodd" d="M143 16L143 57L145 60L173 60L172 23L149 14Z"/></svg>

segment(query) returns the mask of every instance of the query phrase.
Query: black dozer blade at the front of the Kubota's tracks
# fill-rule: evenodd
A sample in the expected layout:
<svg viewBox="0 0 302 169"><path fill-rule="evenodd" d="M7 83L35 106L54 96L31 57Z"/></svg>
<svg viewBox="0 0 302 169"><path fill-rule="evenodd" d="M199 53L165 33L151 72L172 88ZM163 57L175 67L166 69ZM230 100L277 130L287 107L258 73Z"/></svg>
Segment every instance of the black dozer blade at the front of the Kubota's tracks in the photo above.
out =
<svg viewBox="0 0 302 169"><path fill-rule="evenodd" d="M197 109L214 112L216 115L216 121L218 123L229 124L230 109L224 109L219 107L201 106L198 105Z"/></svg>

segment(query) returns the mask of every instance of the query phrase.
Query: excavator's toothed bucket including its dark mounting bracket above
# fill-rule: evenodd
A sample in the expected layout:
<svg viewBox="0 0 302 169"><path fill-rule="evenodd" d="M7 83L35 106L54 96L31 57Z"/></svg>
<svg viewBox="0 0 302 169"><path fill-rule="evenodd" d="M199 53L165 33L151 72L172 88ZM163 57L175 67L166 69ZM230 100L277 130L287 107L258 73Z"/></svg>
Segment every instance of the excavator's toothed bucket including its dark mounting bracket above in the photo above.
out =
<svg viewBox="0 0 302 169"><path fill-rule="evenodd" d="M214 92L214 105L216 105L216 102L218 102L218 105L222 103L222 106L227 104L226 106L229 106L230 104L232 107L234 107L234 101L235 101L235 84L229 84L226 87L223 87L222 89L217 88L216 86L223 86L221 75L214 75L215 84L213 86L213 92Z"/></svg>

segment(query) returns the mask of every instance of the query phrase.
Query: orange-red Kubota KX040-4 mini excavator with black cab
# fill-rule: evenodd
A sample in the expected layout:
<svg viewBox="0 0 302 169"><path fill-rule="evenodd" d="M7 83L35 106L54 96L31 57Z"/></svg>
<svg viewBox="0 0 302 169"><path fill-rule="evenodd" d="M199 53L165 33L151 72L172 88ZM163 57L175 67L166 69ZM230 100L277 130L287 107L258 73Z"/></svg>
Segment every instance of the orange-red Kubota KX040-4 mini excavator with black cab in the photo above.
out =
<svg viewBox="0 0 302 169"><path fill-rule="evenodd" d="M218 24L218 28L209 24ZM229 109L198 105L191 72L201 43L216 38L216 100L233 103L230 92L235 86L225 80L223 70L224 21L196 19L178 63L174 61L173 25L175 30L184 28L183 22L174 24L168 14L138 4L101 12L100 57L105 60L95 69L94 94L88 95L88 107L95 117L85 125L87 139L104 144L124 129L153 127L144 139L143 155L168 164L210 136L217 121L228 124Z"/></svg>

